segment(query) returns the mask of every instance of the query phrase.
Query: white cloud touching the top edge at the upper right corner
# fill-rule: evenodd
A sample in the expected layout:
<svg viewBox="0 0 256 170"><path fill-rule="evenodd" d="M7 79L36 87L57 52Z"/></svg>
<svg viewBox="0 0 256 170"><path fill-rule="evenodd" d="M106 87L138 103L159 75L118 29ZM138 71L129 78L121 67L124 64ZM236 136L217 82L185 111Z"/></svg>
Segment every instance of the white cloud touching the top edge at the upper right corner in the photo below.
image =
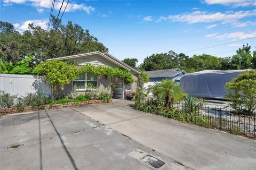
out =
<svg viewBox="0 0 256 170"><path fill-rule="evenodd" d="M213 5L213 4L231 5L232 7L256 5L255 0L205 0L205 3L210 5Z"/></svg>

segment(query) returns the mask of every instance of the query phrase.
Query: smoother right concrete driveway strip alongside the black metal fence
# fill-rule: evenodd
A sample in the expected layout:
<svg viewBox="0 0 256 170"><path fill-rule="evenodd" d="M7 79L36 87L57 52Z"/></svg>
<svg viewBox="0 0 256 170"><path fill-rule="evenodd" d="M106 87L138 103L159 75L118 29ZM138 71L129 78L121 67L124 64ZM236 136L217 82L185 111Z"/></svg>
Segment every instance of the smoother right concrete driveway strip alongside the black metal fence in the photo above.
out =
<svg viewBox="0 0 256 170"><path fill-rule="evenodd" d="M114 100L74 109L191 169L255 169L256 141L180 123Z"/></svg>

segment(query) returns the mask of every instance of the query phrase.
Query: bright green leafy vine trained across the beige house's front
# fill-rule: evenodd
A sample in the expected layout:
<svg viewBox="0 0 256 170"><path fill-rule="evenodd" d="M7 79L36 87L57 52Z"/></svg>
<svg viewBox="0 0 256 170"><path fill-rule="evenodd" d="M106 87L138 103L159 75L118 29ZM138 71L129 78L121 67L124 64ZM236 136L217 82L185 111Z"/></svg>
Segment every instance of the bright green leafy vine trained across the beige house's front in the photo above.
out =
<svg viewBox="0 0 256 170"><path fill-rule="evenodd" d="M60 87L75 80L79 73L94 73L99 75L99 77L106 75L109 78L115 76L122 79L124 83L134 82L133 75L124 69L113 69L109 66L94 66L92 64L78 66L74 63L68 64L67 62L57 60L40 63L36 66L35 71L39 75L45 75L45 78L51 85L58 85Z"/></svg>

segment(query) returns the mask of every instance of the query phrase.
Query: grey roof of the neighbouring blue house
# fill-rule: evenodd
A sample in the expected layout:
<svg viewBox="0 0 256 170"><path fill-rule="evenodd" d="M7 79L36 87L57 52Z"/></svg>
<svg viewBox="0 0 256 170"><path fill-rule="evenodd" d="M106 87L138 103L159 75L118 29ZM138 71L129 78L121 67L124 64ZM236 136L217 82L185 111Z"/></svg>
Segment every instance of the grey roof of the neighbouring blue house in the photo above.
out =
<svg viewBox="0 0 256 170"><path fill-rule="evenodd" d="M184 72L180 69L166 69L166 70L154 70L154 71L145 71L148 74L149 78L168 78L174 77L175 75Z"/></svg>

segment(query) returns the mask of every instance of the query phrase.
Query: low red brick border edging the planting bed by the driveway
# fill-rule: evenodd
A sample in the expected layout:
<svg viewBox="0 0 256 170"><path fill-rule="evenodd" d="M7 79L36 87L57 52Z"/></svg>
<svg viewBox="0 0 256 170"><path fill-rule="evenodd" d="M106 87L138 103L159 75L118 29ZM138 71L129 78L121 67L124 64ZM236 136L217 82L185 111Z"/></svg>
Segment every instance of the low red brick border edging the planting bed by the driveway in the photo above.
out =
<svg viewBox="0 0 256 170"><path fill-rule="evenodd" d="M110 99L109 103L113 100ZM43 109L34 109L31 106L25 107L24 111L19 112L17 108L7 108L6 111L4 108L0 108L0 117L7 114L12 113L23 113L23 112L31 112L31 111L39 111L39 110L47 110L47 109L54 109L54 108L64 108L64 107L71 107L71 106L85 106L90 104L104 104L107 103L106 100L89 100L89 101L78 101L78 102L70 102L66 104L54 104L54 105L45 105Z"/></svg>

